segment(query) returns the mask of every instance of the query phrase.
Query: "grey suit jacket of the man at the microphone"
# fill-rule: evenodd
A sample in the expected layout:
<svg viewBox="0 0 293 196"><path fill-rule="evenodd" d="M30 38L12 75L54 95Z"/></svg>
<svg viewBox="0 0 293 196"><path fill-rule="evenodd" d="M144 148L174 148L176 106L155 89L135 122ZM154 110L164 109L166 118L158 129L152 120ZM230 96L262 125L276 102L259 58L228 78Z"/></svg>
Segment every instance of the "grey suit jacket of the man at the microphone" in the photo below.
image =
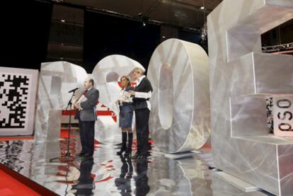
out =
<svg viewBox="0 0 293 196"><path fill-rule="evenodd" d="M85 95L86 100L81 102L81 110L75 115L75 119L81 121L95 121L97 120L96 105L98 102L99 92L96 88L91 88Z"/></svg>

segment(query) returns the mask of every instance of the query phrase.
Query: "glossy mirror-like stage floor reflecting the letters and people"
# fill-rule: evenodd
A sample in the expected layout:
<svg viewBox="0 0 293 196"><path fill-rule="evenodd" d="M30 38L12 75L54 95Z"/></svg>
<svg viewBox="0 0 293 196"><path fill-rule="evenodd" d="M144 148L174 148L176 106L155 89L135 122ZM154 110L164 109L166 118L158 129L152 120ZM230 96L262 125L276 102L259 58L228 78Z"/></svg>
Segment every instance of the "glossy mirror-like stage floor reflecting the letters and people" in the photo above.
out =
<svg viewBox="0 0 293 196"><path fill-rule="evenodd" d="M75 133L76 134L76 133ZM93 158L79 159L79 137L67 140L0 142L0 163L59 195L268 195L243 192L211 170L209 150L173 160L151 150L146 161L117 156L117 146L96 144ZM50 159L55 158L53 161Z"/></svg>

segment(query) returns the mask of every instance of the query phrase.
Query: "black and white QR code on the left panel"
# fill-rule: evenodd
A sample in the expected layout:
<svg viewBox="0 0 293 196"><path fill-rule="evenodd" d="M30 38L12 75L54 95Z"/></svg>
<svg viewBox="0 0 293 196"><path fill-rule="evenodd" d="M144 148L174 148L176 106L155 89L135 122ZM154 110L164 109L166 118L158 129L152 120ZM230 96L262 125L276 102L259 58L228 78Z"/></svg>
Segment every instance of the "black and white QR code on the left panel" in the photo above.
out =
<svg viewBox="0 0 293 196"><path fill-rule="evenodd" d="M25 128L29 78L0 73L0 128Z"/></svg>

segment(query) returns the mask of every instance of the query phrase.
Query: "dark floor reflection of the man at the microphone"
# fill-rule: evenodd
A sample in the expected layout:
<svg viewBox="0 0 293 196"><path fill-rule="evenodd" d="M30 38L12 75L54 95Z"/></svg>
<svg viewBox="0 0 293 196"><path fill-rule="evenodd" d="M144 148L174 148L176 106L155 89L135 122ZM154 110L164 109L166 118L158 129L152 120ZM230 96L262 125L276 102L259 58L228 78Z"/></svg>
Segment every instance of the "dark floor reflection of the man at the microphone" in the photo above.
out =
<svg viewBox="0 0 293 196"><path fill-rule="evenodd" d="M71 190L76 190L74 195L93 195L95 185L91 177L91 169L93 168L93 158L86 158L81 161L79 183L72 185Z"/></svg>

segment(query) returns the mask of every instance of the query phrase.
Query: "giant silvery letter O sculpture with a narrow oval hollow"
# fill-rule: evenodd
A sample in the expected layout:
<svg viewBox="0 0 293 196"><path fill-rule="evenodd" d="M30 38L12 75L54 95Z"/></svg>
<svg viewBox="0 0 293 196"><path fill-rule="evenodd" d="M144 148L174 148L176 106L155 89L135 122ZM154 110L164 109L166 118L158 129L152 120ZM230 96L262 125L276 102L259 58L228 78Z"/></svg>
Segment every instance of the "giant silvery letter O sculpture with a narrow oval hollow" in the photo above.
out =
<svg viewBox="0 0 293 196"><path fill-rule="evenodd" d="M208 57L199 45L177 39L162 42L149 63L154 88L150 132L168 153L200 148L210 133Z"/></svg>

